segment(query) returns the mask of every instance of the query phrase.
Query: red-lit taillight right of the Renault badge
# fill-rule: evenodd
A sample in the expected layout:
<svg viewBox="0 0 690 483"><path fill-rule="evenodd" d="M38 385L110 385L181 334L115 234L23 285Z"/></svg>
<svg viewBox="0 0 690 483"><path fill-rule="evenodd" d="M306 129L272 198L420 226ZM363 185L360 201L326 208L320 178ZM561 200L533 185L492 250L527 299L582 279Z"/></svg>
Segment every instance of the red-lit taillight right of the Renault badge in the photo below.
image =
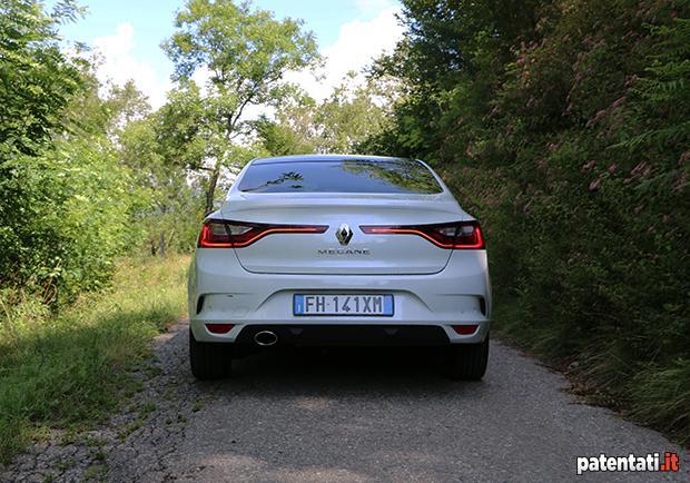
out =
<svg viewBox="0 0 690 483"><path fill-rule="evenodd" d="M435 225L361 226L371 235L416 235L441 248L484 249L484 237L477 221L457 221Z"/></svg>

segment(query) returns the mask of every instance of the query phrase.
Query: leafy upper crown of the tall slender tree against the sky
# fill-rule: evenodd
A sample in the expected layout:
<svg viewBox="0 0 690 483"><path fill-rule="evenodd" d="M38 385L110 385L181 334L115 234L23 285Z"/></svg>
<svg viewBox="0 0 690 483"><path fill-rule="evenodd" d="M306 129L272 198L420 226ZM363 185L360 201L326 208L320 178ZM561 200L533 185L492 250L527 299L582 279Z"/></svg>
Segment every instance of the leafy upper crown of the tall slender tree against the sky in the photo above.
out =
<svg viewBox="0 0 690 483"><path fill-rule="evenodd" d="M175 62L177 77L189 79L197 69L207 68L213 85L228 89L224 93L233 97L231 103L274 100L275 82L316 56L314 36L302 32L300 21L275 20L248 2L189 0L177 14L176 27L164 49Z"/></svg>

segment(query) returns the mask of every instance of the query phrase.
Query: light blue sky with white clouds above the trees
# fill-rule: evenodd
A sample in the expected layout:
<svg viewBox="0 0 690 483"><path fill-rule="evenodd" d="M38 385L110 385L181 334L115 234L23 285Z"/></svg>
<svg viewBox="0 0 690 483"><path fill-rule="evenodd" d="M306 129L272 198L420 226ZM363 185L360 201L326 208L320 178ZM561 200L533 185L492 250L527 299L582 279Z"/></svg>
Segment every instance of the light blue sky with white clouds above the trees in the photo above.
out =
<svg viewBox="0 0 690 483"><path fill-rule="evenodd" d="M47 1L50 7L56 1ZM83 19L62 26L68 42L85 42L102 56L101 81L117 85L132 79L160 107L171 88L172 62L160 43L174 31L175 12L184 0L81 0ZM277 18L303 19L326 59L323 80L305 72L288 79L323 99L348 70L361 70L372 58L391 50L402 36L395 19L397 0L254 0L254 6L275 12Z"/></svg>

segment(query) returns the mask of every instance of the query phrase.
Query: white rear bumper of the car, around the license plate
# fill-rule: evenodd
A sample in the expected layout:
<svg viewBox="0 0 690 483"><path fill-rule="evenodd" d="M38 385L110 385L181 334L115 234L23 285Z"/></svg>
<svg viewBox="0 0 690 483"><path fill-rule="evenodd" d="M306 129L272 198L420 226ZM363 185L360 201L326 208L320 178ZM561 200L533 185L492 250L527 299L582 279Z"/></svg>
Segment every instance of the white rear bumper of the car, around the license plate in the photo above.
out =
<svg viewBox="0 0 690 483"><path fill-rule="evenodd" d="M294 316L296 293L393 294L395 313ZM442 272L428 275L276 275L246 272L231 249L199 248L189 270L188 295L197 341L243 344L267 326L283 342L298 345L480 343L489 333L492 305L484 250L455 250ZM227 334L211 334L206 323L235 326ZM460 335L452 328L459 324L479 327ZM302 338L295 334L299 329Z"/></svg>

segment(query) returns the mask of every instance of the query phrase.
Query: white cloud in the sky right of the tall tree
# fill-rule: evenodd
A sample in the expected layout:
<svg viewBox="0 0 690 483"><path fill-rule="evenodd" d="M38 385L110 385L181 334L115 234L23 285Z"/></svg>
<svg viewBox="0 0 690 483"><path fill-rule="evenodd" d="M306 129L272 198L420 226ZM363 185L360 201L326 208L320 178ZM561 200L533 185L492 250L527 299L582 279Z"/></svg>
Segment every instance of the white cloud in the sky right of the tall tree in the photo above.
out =
<svg viewBox="0 0 690 483"><path fill-rule="evenodd" d="M395 17L400 7L390 0L358 0L358 8L369 10L387 6L369 21L354 20L341 27L338 39L322 50L325 67L315 79L310 72L292 72L287 80L300 85L309 95L322 100L333 91L345 75L359 72L384 51L391 51L402 38L403 28Z"/></svg>

